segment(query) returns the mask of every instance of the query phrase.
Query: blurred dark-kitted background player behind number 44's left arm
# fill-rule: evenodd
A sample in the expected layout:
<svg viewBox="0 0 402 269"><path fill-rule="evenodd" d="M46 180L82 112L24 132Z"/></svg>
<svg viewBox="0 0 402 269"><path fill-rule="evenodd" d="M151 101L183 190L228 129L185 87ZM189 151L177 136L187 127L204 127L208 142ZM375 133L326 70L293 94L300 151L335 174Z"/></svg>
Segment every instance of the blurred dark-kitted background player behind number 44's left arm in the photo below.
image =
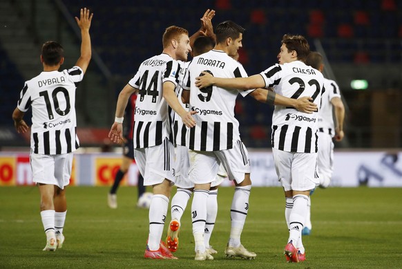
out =
<svg viewBox="0 0 402 269"><path fill-rule="evenodd" d="M135 116L135 101L137 100L137 93L133 93L130 95L128 99L126 109L124 111L124 118L126 118L124 128L123 128L123 156L122 156L122 165L119 167L119 171L117 171L115 175L115 180L111 187L111 190L108 193L108 205L109 207L115 209L117 208L117 189L119 188L119 184L124 178L124 175L127 173L130 168L131 163L134 160L134 147L133 147L133 127L134 127L134 116ZM144 194L145 186L144 186L144 178L141 173L138 173L138 196L137 200ZM137 205L138 206L138 205Z"/></svg>

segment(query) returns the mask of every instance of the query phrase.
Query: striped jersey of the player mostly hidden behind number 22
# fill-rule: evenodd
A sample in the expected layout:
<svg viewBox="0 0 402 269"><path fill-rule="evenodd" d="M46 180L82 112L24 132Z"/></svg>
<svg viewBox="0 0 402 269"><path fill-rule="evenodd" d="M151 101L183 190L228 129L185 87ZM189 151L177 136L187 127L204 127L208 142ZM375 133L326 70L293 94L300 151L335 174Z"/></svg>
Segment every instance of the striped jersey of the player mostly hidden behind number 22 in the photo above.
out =
<svg viewBox="0 0 402 269"><path fill-rule="evenodd" d="M325 93L321 97L320 113L318 113L318 131L335 136L335 125L332 105L332 98L341 98L338 84L334 80L324 78Z"/></svg>

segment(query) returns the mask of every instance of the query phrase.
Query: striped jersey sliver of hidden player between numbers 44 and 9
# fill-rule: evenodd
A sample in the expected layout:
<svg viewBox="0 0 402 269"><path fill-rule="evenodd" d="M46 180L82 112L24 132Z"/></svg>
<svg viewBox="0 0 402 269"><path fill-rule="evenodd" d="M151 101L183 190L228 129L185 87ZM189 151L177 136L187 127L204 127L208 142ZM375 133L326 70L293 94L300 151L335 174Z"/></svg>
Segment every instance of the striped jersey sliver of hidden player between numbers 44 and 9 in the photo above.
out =
<svg viewBox="0 0 402 269"><path fill-rule="evenodd" d="M179 75L179 84L176 87L176 93L178 95L178 100L180 104L183 106L186 111L189 111L190 104L183 104L182 102L182 83L184 79L184 73L186 73L187 67L189 66L190 62L182 62L178 61L180 64L180 75ZM186 127L185 124L182 122L182 118L180 118L180 115L175 115L175 119L173 121L173 127L172 127L172 133L173 133L173 144L174 145L181 145L181 146L187 146L186 142L186 134L187 131L189 131L189 128Z"/></svg>

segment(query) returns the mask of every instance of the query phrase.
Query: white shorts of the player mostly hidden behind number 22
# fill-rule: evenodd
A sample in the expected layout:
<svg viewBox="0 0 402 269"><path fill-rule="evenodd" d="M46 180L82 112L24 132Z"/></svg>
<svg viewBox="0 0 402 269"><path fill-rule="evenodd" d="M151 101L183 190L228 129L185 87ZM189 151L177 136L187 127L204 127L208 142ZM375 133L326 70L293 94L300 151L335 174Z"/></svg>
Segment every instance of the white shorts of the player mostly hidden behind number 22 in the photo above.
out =
<svg viewBox="0 0 402 269"><path fill-rule="evenodd" d="M334 172L334 142L327 133L318 131L318 158L317 172L320 178L320 185L328 187Z"/></svg>

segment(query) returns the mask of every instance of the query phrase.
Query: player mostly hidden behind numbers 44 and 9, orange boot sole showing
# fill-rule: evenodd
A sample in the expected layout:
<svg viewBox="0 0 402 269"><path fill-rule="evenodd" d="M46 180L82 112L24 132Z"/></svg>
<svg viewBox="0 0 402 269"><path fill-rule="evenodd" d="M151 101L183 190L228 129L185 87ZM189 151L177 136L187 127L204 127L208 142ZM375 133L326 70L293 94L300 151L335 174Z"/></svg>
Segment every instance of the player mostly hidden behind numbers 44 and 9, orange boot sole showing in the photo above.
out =
<svg viewBox="0 0 402 269"><path fill-rule="evenodd" d="M209 24L211 21L209 20ZM211 37L200 36L193 42L192 55L193 57L201 55L202 53L207 53L215 46L215 41ZM186 71L186 66L189 62L183 63L184 68L180 71L180 77L184 75ZM182 81L182 80L181 80ZM181 102L182 95L182 85L178 86L178 96ZM182 104L186 110L189 110L189 104ZM175 140L175 156L176 156L176 169L175 169L175 185L178 188L176 194L173 196L171 201L171 222L168 226L168 232L166 236L166 245L171 250L175 252L178 250L178 234L180 232L180 220L186 209L186 205L193 194L194 183L189 178L189 149L186 140L186 133L189 130L184 124L182 124L180 118L175 120L173 124L173 135ZM208 197L208 211L207 211L207 223L205 227L204 243L209 254L216 254L214 250L209 245L209 239L211 238L211 233L216 221L216 215L218 214L218 185L222 183L224 178L227 177L226 171L223 167L220 167L216 180L213 181Z"/></svg>

